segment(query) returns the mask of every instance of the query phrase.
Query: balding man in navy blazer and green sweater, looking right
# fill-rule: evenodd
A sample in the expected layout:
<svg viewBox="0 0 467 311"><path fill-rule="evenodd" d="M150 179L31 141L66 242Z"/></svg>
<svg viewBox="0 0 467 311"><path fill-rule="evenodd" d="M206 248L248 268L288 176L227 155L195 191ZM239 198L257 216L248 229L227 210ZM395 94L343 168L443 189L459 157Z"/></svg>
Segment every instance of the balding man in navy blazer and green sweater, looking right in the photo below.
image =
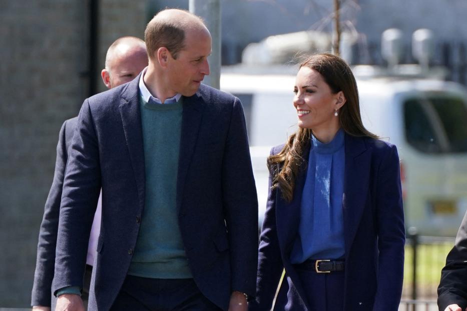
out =
<svg viewBox="0 0 467 311"><path fill-rule="evenodd" d="M258 216L241 103L201 84L211 36L199 17L163 10L145 41L149 66L86 99L79 114L60 210L57 309L84 309L79 289L102 187L89 310L246 310L246 296L255 294ZM155 191L161 184L167 191ZM164 262L165 240L148 235L157 230L181 245ZM135 259L147 254L153 262Z"/></svg>

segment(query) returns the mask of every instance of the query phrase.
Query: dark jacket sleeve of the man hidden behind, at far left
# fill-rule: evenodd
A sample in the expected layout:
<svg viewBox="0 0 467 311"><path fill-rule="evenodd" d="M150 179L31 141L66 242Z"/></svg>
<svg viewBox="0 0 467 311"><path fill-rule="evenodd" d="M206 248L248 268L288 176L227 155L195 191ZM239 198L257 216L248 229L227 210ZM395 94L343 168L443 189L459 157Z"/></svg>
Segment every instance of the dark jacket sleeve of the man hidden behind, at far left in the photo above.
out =
<svg viewBox="0 0 467 311"><path fill-rule="evenodd" d="M34 273L31 305L53 306L51 299L54 297L51 291L52 279L54 277L60 201L62 198L68 152L72 143L77 120L78 117L66 120L60 129L54 180L44 206L44 217L39 231L36 272Z"/></svg>

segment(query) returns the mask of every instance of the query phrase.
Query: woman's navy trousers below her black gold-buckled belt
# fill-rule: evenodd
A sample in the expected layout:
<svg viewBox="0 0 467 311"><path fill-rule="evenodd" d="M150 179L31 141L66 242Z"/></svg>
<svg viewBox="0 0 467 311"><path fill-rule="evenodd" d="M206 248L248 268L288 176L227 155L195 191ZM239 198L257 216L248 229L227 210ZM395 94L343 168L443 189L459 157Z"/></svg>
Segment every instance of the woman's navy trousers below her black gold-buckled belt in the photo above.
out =
<svg viewBox="0 0 467 311"><path fill-rule="evenodd" d="M301 286L304 288L310 309L299 298L295 286L284 279L277 296L274 310L284 311L343 311L344 306L344 271L316 273L297 268ZM285 284L284 284L285 282Z"/></svg>

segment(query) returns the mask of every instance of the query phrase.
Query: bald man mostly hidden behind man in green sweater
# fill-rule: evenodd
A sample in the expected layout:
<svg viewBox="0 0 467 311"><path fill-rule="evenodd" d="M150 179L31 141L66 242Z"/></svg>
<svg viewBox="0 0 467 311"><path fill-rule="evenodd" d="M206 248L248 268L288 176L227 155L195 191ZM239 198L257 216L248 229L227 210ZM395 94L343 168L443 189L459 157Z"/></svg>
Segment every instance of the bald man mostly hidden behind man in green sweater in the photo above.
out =
<svg viewBox="0 0 467 311"><path fill-rule="evenodd" d="M106 67L101 72L102 80L108 88L113 88L133 80L147 65L148 55L144 41L132 36L121 37L107 51ZM51 288L54 277L59 209L68 153L77 121L78 117L66 120L60 130L54 181L46 201L44 217L39 232L36 272L31 302L33 310L50 311L51 305L55 306L55 296L52 296ZM100 220L101 208L99 200L88 245L83 286L84 292L89 292L92 265L97 248L97 237L100 231Z"/></svg>

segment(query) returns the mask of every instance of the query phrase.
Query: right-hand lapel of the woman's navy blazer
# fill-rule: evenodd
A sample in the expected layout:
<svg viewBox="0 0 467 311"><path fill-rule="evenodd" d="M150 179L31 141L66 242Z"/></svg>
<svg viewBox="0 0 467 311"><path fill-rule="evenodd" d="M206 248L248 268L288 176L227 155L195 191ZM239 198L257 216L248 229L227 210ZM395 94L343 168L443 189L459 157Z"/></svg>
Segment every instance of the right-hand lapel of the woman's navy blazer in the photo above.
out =
<svg viewBox="0 0 467 311"><path fill-rule="evenodd" d="M345 253L350 246L366 204L371 151L365 146L363 138L345 134L345 173L342 209L344 216Z"/></svg>

